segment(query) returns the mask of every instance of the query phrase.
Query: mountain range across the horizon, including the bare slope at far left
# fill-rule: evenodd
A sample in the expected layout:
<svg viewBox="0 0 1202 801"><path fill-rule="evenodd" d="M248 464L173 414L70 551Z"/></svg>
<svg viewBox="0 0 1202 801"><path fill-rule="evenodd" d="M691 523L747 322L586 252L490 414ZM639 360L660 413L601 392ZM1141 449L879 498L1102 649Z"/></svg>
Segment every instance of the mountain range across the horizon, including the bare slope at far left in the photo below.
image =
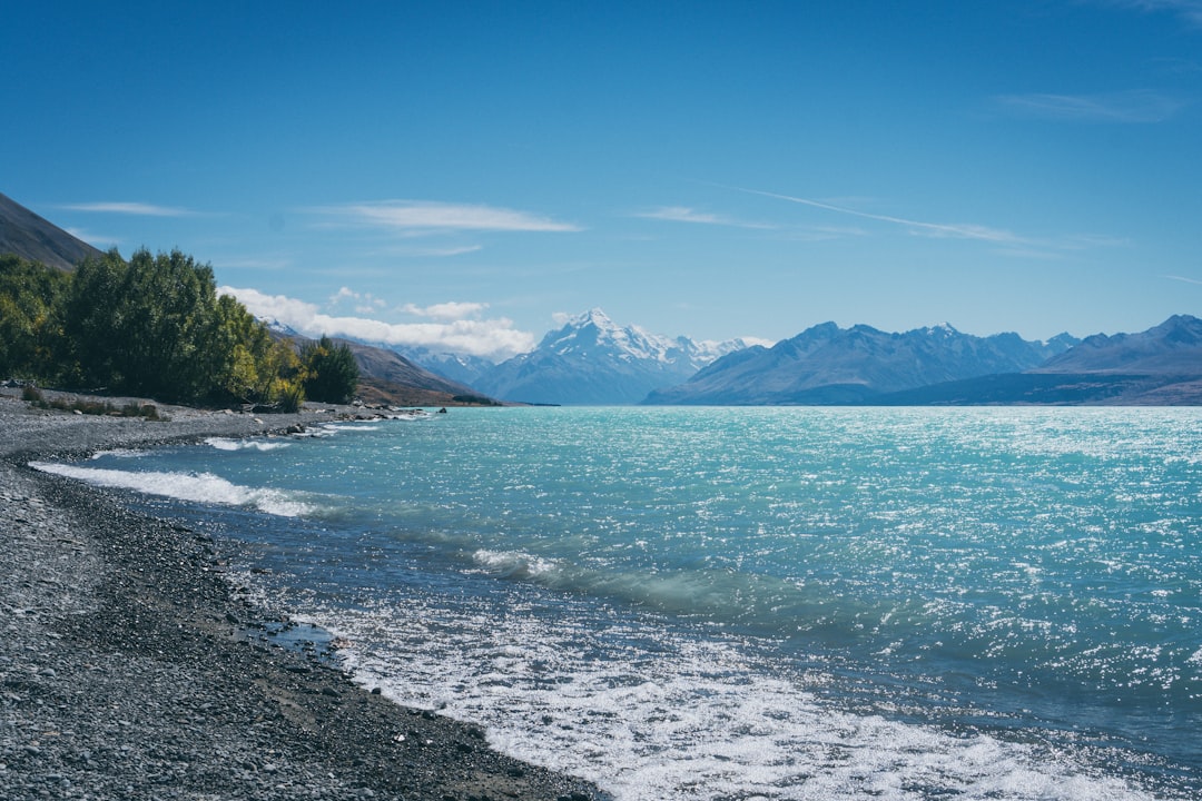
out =
<svg viewBox="0 0 1202 801"><path fill-rule="evenodd" d="M71 270L100 251L0 195L0 253ZM276 335L299 337L272 322ZM772 347L670 339L600 309L501 364L417 346L347 342L369 401L684 405L1202 405L1202 319L1136 334L980 337L814 325Z"/></svg>

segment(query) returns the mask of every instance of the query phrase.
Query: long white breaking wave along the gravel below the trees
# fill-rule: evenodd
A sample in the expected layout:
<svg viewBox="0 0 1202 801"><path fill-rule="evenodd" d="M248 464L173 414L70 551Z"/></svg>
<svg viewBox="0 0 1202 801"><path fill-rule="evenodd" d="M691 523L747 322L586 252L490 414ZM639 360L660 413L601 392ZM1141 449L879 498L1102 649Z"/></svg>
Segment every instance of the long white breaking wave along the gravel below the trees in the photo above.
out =
<svg viewBox="0 0 1202 801"><path fill-rule="evenodd" d="M213 473L136 472L38 461L30 462L30 467L97 486L135 490L179 501L250 507L284 518L297 518L315 510L313 504L279 490L240 486Z"/></svg>

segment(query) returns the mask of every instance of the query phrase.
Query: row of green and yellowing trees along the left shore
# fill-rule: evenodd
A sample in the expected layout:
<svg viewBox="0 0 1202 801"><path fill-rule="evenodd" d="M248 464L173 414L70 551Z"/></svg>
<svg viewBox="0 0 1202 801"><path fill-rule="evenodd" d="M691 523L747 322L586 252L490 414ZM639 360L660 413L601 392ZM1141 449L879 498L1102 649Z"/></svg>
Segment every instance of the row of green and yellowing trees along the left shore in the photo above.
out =
<svg viewBox="0 0 1202 801"><path fill-rule="evenodd" d="M358 365L328 337L272 336L213 268L178 250L113 249L64 273L0 256L0 377L167 402L294 411L347 402Z"/></svg>

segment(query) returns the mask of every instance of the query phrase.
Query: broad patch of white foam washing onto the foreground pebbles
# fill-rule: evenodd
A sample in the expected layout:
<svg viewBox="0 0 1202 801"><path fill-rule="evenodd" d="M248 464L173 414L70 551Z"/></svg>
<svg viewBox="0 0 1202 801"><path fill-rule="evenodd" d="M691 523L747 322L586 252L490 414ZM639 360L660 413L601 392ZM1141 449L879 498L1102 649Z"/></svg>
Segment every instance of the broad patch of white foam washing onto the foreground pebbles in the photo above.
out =
<svg viewBox="0 0 1202 801"><path fill-rule="evenodd" d="M1065 751L831 707L807 683L829 677L775 676L736 644L621 617L600 636L571 616L441 604L319 617L356 644L343 654L363 683L619 801L1154 797Z"/></svg>

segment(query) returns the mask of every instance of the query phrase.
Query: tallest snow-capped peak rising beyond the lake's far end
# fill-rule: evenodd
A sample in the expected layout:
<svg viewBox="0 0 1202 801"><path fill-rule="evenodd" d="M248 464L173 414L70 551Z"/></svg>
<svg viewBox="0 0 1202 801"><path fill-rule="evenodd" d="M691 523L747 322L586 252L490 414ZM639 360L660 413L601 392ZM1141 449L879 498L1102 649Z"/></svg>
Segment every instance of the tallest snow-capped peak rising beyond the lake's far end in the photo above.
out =
<svg viewBox="0 0 1202 801"><path fill-rule="evenodd" d="M538 346L502 361L472 385L508 401L565 405L637 404L660 387L686 381L739 340L670 339L637 325L618 325L600 309L548 333Z"/></svg>

